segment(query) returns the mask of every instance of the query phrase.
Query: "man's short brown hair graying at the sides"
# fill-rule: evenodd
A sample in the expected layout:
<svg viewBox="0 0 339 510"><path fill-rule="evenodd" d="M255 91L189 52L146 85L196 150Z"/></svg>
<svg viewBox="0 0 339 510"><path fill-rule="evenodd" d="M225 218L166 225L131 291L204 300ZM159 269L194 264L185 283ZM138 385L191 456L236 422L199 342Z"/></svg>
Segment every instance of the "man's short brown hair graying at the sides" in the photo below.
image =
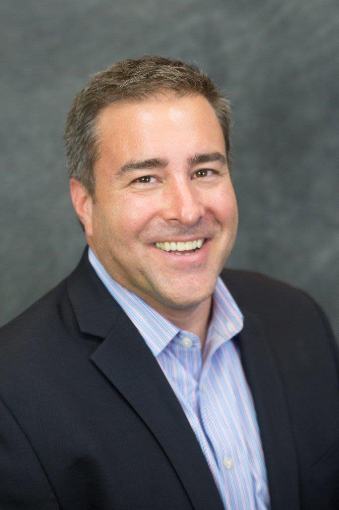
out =
<svg viewBox="0 0 339 510"><path fill-rule="evenodd" d="M94 195L99 112L116 101L147 99L166 90L174 91L178 96L201 94L208 99L218 116L231 165L229 101L196 65L173 58L145 56L122 60L98 72L75 96L64 137L69 177L78 179Z"/></svg>

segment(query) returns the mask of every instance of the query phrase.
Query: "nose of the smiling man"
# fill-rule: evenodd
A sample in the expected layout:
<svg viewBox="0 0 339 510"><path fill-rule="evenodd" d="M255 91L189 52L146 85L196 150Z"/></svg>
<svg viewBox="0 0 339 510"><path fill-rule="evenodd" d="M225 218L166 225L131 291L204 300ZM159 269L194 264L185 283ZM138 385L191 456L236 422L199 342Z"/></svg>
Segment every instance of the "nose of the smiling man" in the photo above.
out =
<svg viewBox="0 0 339 510"><path fill-rule="evenodd" d="M174 180L165 186L162 216L166 221L178 221L183 225L194 225L205 215L199 190L192 181Z"/></svg>

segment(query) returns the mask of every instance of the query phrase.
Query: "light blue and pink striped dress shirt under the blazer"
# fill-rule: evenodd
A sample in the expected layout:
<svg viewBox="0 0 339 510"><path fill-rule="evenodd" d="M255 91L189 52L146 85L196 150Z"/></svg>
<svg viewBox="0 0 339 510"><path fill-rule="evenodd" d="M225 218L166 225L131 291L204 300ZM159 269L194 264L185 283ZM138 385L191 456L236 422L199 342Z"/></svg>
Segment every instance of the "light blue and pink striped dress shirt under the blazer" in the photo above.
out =
<svg viewBox="0 0 339 510"><path fill-rule="evenodd" d="M200 339L175 326L106 272L95 272L138 329L173 388L205 455L227 510L270 508L260 431L235 338L243 316L221 278L202 351Z"/></svg>

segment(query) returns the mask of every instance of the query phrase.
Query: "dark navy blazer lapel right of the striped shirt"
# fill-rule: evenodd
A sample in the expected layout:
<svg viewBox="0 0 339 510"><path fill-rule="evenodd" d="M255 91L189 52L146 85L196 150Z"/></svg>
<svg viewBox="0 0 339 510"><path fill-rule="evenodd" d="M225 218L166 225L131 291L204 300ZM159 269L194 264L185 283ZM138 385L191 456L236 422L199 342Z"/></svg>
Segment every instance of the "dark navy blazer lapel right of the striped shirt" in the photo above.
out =
<svg viewBox="0 0 339 510"><path fill-rule="evenodd" d="M298 510L298 463L283 382L259 319L243 313L241 358L256 407L272 510Z"/></svg>

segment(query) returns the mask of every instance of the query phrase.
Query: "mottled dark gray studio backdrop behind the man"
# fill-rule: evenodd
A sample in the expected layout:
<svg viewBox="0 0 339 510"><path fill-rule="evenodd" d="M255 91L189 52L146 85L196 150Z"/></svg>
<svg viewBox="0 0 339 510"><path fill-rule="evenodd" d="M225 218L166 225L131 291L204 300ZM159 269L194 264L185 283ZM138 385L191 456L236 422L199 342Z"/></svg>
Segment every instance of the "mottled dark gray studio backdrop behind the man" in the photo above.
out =
<svg viewBox="0 0 339 510"><path fill-rule="evenodd" d="M58 283L84 238L63 127L90 75L143 53L196 61L233 104L240 229L230 267L312 294L338 330L336 0L2 2L1 307Z"/></svg>

